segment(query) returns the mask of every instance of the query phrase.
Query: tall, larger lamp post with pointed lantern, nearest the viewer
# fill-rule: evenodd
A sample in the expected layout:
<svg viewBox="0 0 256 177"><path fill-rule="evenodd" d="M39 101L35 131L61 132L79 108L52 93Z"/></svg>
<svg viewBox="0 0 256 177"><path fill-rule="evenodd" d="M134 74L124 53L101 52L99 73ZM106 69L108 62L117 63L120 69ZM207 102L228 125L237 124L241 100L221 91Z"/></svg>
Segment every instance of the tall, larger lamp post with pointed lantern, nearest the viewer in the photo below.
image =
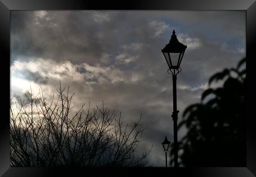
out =
<svg viewBox="0 0 256 177"><path fill-rule="evenodd" d="M178 41L175 31L173 30L173 35L171 36L169 44L166 44L166 46L161 50L169 66L167 72L173 76L173 114L171 117L173 118L174 131L174 167L178 166L177 120L179 111L177 111L176 75L181 71L180 63L186 48L187 46Z"/></svg>

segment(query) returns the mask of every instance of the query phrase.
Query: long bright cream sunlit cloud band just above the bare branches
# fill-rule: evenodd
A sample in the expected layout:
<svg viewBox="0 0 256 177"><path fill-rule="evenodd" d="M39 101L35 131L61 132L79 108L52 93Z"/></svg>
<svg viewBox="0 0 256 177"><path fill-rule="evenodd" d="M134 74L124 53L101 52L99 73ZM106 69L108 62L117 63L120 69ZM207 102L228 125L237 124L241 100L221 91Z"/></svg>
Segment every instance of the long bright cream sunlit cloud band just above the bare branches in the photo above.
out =
<svg viewBox="0 0 256 177"><path fill-rule="evenodd" d="M57 63L51 59L34 59L29 62L15 61L11 65L11 78L46 84L52 81L76 81L98 83L99 85L116 82L135 83L142 79L134 72L124 72L115 66L91 66L87 63L72 64L70 61ZM12 85L15 85L12 82ZM18 85L16 85L18 87ZM24 87L24 86L21 86Z"/></svg>

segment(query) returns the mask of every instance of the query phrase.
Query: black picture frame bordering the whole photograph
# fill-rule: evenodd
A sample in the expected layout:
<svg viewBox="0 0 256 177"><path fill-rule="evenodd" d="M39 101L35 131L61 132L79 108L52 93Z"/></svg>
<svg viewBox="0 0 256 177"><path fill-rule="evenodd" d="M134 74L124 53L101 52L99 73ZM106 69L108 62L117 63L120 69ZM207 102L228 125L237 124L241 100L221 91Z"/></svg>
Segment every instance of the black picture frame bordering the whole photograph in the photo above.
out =
<svg viewBox="0 0 256 177"><path fill-rule="evenodd" d="M3 111L0 123L0 175L3 177L43 176L131 176L170 175L198 177L253 177L256 175L256 133L255 116L252 114L255 98L253 61L256 59L256 2L255 0L132 0L132 1L89 1L89 0L0 0L0 46L2 64L2 93L9 92L6 83L10 81L8 59L10 59L10 11L12 10L245 10L246 11L246 55L247 55L247 166L239 168L10 168L9 167L9 118L7 102L9 95L3 94ZM249 75L249 77L248 77ZM248 84L252 83L252 84ZM250 94L250 95L249 95ZM239 153L239 152L237 152ZM117 173L116 171L119 171ZM121 174L120 174L121 173ZM143 175L143 176L144 176Z"/></svg>

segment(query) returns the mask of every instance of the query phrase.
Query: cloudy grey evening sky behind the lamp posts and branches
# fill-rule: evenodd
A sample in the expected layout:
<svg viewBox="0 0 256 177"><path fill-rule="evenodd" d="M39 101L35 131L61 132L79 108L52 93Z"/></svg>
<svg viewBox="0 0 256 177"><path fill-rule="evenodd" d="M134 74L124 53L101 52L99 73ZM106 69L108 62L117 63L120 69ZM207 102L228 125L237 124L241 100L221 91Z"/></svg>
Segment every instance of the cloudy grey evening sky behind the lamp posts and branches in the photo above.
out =
<svg viewBox="0 0 256 177"><path fill-rule="evenodd" d="M165 166L161 142L173 142L173 83L161 49L173 30L187 45L177 75L179 123L210 76L245 57L245 24L245 11L11 11L10 96L23 100L30 87L42 87L52 98L61 80L76 109L103 100L129 125L142 113L146 129L136 153L153 145L147 166ZM186 132L182 127L178 140Z"/></svg>

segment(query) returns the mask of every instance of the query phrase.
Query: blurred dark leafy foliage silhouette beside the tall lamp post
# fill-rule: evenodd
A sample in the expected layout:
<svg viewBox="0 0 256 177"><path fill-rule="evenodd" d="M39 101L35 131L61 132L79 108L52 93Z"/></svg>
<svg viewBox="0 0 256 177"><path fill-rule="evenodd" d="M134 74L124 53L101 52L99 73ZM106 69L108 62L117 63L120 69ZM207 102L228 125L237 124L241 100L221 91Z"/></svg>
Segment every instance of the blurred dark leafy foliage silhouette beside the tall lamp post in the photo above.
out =
<svg viewBox="0 0 256 177"><path fill-rule="evenodd" d="M246 68L241 69L244 63L246 58L239 61L237 68L211 76L209 85L223 80L223 87L205 90L200 103L185 109L178 129L185 125L188 132L178 142L179 165L246 166Z"/></svg>

